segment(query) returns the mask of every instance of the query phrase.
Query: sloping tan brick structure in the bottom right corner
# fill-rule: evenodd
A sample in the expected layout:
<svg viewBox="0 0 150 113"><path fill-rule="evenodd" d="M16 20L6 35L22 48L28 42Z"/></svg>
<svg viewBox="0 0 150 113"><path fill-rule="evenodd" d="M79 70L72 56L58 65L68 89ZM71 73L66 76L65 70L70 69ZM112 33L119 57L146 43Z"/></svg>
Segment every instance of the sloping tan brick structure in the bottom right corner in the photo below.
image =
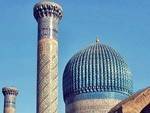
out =
<svg viewBox="0 0 150 113"><path fill-rule="evenodd" d="M144 113L143 109L149 104L150 104L150 87L140 90L134 95L120 102L108 113L141 113L141 112Z"/></svg>

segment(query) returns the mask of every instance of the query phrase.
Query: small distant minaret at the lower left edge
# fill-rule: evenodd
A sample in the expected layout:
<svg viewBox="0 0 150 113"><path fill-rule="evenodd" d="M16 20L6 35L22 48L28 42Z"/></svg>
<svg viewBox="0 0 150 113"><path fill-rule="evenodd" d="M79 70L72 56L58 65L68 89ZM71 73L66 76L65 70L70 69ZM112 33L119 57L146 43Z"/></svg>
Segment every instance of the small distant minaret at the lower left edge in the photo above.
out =
<svg viewBox="0 0 150 113"><path fill-rule="evenodd" d="M4 113L15 113L18 90L15 87L4 87L2 92L4 95Z"/></svg>

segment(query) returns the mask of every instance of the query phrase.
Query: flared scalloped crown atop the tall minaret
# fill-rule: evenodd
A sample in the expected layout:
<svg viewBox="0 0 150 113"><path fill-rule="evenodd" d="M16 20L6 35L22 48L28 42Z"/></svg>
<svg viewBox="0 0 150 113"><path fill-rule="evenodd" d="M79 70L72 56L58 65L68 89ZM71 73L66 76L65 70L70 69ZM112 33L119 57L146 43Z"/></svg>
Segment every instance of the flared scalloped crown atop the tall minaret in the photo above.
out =
<svg viewBox="0 0 150 113"><path fill-rule="evenodd" d="M43 0L34 6L34 17L36 20L42 17L56 16L59 19L63 16L63 10L60 5L48 0Z"/></svg>

